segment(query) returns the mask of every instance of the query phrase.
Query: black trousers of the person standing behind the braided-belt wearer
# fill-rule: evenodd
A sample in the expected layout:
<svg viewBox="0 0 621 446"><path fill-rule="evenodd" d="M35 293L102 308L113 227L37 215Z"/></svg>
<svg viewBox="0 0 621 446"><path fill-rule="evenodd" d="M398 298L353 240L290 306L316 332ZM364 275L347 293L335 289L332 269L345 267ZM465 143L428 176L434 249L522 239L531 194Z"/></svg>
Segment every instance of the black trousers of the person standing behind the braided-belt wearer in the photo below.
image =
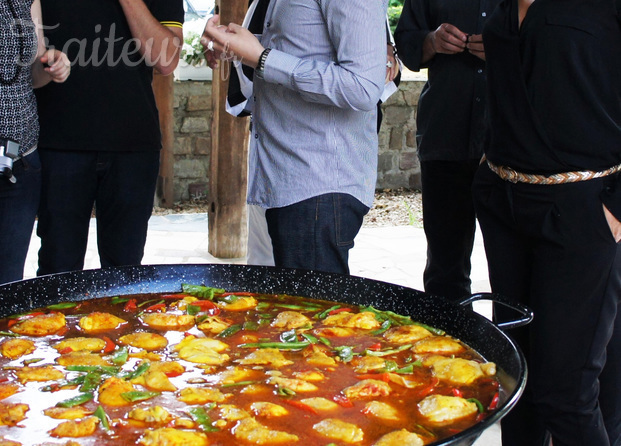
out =
<svg viewBox="0 0 621 446"><path fill-rule="evenodd" d="M427 238L425 291L450 299L470 294L476 217L472 181L479 160L423 161L423 226Z"/></svg>

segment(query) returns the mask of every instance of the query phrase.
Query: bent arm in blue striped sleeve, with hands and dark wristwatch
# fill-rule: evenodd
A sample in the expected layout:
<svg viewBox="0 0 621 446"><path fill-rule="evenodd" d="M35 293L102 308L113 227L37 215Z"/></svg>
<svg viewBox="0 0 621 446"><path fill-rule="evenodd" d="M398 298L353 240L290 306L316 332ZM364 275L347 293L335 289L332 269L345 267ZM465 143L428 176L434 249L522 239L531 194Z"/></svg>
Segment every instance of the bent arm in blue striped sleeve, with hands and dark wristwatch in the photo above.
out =
<svg viewBox="0 0 621 446"><path fill-rule="evenodd" d="M321 8L336 61L299 58L274 49L266 59L264 80L290 88L309 102L374 109L386 78L385 8L368 0L325 0ZM215 51L207 56L212 60L234 55L252 68L264 50L247 29L218 26L217 17L205 27L203 45L209 48L210 41Z"/></svg>

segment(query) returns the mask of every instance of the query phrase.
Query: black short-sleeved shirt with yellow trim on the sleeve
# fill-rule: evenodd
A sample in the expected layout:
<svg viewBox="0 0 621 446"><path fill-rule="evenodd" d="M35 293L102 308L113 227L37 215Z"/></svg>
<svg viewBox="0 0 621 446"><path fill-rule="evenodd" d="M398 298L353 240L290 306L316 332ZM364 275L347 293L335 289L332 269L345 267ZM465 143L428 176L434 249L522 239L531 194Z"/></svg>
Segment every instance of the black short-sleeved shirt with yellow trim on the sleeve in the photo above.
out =
<svg viewBox="0 0 621 446"><path fill-rule="evenodd" d="M181 0L145 0L160 22L183 23ZM63 84L37 90L39 147L159 150L151 82L118 0L41 0L48 46L72 62Z"/></svg>

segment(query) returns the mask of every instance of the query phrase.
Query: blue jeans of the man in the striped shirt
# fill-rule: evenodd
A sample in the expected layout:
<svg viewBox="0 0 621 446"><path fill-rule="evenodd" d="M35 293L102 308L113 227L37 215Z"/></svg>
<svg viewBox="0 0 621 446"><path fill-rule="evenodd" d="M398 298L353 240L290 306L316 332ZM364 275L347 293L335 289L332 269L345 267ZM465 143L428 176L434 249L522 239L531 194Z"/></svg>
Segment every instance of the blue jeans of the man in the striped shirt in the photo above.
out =
<svg viewBox="0 0 621 446"><path fill-rule="evenodd" d="M275 265L349 274L349 250L367 212L360 201L341 193L268 209Z"/></svg>

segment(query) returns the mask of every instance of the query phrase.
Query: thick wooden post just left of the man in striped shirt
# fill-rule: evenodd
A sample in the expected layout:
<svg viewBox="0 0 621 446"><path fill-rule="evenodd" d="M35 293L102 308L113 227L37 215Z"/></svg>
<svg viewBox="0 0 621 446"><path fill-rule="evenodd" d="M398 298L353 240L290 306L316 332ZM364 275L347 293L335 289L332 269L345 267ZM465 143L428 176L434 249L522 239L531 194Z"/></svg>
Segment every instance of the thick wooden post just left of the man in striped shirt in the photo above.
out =
<svg viewBox="0 0 621 446"><path fill-rule="evenodd" d="M218 0L220 23L241 23L248 0ZM219 258L246 255L248 227L248 118L225 110L230 63L220 61L212 83L213 122L209 173L209 252Z"/></svg>

